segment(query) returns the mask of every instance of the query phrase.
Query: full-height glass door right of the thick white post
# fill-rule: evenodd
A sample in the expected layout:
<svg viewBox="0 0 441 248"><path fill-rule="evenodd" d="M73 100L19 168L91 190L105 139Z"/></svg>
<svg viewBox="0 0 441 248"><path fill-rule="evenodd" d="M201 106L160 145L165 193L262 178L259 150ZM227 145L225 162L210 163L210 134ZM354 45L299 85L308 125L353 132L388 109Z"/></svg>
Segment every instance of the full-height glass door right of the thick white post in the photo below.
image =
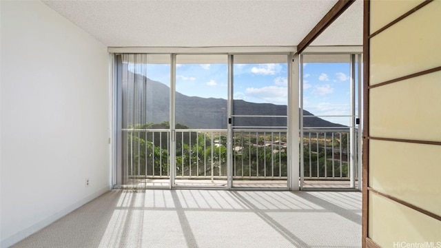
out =
<svg viewBox="0 0 441 248"><path fill-rule="evenodd" d="M304 54L301 61L301 187L360 187L361 54Z"/></svg>

